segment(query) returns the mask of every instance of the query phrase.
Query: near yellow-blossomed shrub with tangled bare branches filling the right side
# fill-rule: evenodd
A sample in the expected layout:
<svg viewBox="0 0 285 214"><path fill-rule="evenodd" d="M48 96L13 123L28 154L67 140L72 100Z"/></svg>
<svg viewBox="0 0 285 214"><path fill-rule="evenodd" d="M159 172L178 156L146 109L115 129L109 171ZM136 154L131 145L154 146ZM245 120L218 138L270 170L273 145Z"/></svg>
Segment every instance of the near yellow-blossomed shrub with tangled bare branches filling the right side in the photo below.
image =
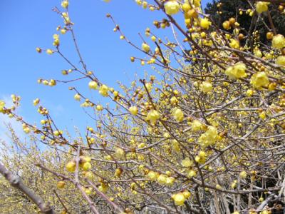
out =
<svg viewBox="0 0 285 214"><path fill-rule="evenodd" d="M115 108L71 87L96 123L71 140L43 107L39 107L45 116L42 127L31 126L13 109L1 107L3 113L18 118L27 133L33 131L59 157L69 158L68 163L66 158L63 161L69 173L44 163L38 166L61 182L73 183L93 213L103 213L103 205L125 213L280 210L285 185L284 36L269 32L272 46L265 46L254 32L254 47L247 46L252 35L239 26L238 17L224 20L224 28L232 31L217 29L198 0L137 3L164 13L165 19L154 24L157 29L171 26L174 40L159 39L146 29L152 41L141 36L140 48L108 14L120 39L145 54L131 61L147 63L156 73L130 86L120 83L119 91L105 86L88 70L68 6L63 5L63 12L55 10L65 22L58 30L71 33L82 68L64 56L54 36L56 50L48 49L48 54L60 54L70 66L63 74L75 77L41 82L54 86L87 78L90 89L111 99ZM267 3L257 2L249 19L264 16L268 9ZM179 13L184 14L185 23L177 19Z"/></svg>

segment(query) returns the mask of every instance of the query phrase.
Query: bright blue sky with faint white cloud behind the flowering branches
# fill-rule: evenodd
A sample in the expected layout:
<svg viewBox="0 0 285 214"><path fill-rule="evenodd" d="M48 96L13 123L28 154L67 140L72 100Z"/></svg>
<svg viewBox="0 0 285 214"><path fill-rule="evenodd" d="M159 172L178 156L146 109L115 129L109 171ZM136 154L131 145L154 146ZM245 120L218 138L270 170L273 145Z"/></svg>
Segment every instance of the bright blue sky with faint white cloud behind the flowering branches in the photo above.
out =
<svg viewBox="0 0 285 214"><path fill-rule="evenodd" d="M202 0L202 6L209 1ZM0 100L6 101L9 106L11 94L21 96L19 114L29 123L38 124L42 117L33 106L33 99L40 98L41 104L48 108L61 129L71 130L77 126L82 130L87 125L92 126L92 122L83 113L80 103L73 99L74 92L68 91L68 86L78 86L81 91L90 94L88 81L58 84L56 87L37 83L38 78L71 78L61 75L61 70L70 68L61 57L36 52L36 47L52 49L56 27L63 25L61 17L52 11L54 6L61 8L61 1L0 1ZM135 79L136 73L143 76L150 68L142 67L140 63L130 63L130 56L142 54L121 41L120 34L113 32L112 21L105 17L108 13L112 14L124 34L138 46L142 44L138 33L144 35L147 27L159 32L161 38L169 36L172 39L173 36L170 29L156 31L152 25L152 21L164 18L162 12L142 9L134 1L113 0L107 4L101 0L70 0L69 14L75 23L76 39L88 70L93 71L103 83L114 87L116 81L130 83ZM78 65L71 36L61 35L60 39L63 53ZM150 39L146 41L151 44ZM93 92L92 97L95 101L104 102L98 93ZM5 126L8 122L16 132L23 134L21 124L0 115L0 138L9 141Z"/></svg>

